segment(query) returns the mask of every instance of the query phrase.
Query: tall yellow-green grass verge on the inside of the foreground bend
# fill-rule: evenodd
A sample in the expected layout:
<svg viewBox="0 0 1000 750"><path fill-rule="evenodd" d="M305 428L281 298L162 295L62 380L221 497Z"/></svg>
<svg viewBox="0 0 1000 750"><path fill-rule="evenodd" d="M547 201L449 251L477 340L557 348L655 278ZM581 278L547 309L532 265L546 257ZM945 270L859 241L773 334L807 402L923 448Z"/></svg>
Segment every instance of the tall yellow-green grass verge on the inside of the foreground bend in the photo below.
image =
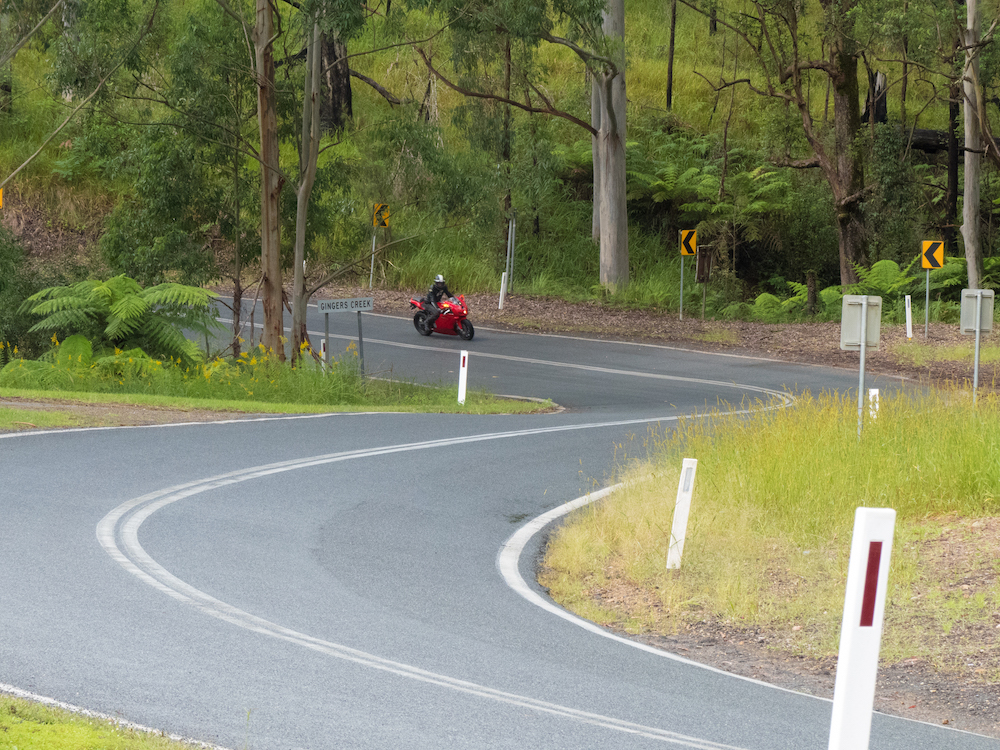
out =
<svg viewBox="0 0 1000 750"><path fill-rule="evenodd" d="M1000 402L884 398L857 437L850 399L806 395L746 419L650 433L650 459L550 540L540 582L569 609L633 633L711 619L836 654L858 506L897 511L883 662L919 657L1000 677ZM681 570L667 571L681 459L699 461ZM970 674L971 673L971 674Z"/></svg>

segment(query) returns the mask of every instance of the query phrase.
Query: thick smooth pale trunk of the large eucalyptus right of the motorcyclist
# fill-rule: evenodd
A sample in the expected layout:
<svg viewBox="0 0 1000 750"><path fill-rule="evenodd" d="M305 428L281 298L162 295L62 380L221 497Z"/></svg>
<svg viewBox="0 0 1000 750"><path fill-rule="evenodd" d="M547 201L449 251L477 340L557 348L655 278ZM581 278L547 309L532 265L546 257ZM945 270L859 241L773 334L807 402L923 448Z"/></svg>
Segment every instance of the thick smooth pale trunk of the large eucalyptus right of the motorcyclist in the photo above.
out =
<svg viewBox="0 0 1000 750"><path fill-rule="evenodd" d="M604 17L606 37L622 46L615 60L618 71L601 82L601 284L612 292L628 285L628 211L625 202L625 2L611 0ZM596 168L595 168L596 171Z"/></svg>

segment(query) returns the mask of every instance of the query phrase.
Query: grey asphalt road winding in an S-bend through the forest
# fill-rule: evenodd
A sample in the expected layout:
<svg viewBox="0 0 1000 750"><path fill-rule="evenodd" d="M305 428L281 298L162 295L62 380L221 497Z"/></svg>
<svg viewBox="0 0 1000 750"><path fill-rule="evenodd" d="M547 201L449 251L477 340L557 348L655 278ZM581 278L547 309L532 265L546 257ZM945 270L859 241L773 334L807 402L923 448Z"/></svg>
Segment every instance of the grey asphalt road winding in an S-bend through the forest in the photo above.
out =
<svg viewBox="0 0 1000 750"><path fill-rule="evenodd" d="M356 317L331 330L342 348ZM566 410L2 436L0 683L259 750L826 747L828 701L554 607L533 583L545 520L531 524L680 415L856 388L856 372L486 329L426 339L378 315L364 333L369 372L452 382L467 348L470 387ZM998 747L873 726L880 750Z"/></svg>

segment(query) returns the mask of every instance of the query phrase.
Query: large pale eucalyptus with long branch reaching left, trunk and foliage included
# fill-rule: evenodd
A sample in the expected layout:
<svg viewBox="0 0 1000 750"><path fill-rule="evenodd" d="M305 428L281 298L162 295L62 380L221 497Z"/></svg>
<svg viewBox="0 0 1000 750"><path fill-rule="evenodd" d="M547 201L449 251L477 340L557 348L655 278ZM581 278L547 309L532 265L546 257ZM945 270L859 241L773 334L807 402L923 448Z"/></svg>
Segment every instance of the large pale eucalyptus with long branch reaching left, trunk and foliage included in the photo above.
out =
<svg viewBox="0 0 1000 750"><path fill-rule="evenodd" d="M609 10L605 0L556 0L551 4L533 0L411 0L412 7L440 13L447 20L456 46L456 67L474 69L474 56L466 54L467 40L475 38L509 39L524 53L513 62L510 83L490 87L481 79L463 84L458 75L444 72L435 60L433 49L414 42L418 54L438 80L466 97L490 99L525 112L563 118L585 129L595 139L597 160L595 181L598 193L595 204L600 225L600 281L609 289L628 283L628 217L625 210L625 117L623 107L615 109L617 99L624 102L624 5L613 0ZM605 33L605 20L608 33ZM557 28L565 29L562 35ZM612 31L613 29L613 31ZM594 102L599 114L597 126L586 115L574 115L560 109L544 86L544 71L533 54L542 45L571 50L595 81ZM500 48L501 44L495 44ZM507 87L510 91L507 91ZM613 93L619 90L617 97ZM515 93L516 92L516 93Z"/></svg>

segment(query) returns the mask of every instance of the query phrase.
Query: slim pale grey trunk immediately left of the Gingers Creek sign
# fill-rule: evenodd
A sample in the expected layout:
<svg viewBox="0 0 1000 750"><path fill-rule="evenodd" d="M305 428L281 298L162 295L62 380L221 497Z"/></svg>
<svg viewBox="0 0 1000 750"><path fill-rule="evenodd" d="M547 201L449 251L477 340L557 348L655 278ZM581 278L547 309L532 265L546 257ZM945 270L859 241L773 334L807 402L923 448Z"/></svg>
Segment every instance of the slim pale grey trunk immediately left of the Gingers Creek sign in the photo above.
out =
<svg viewBox="0 0 1000 750"><path fill-rule="evenodd" d="M306 52L306 71L302 92L302 143L299 151L299 185L295 191L295 254L292 283L292 362L306 353L309 334L306 330L306 222L309 219L309 197L316 182L320 140L320 33L314 20Z"/></svg>

